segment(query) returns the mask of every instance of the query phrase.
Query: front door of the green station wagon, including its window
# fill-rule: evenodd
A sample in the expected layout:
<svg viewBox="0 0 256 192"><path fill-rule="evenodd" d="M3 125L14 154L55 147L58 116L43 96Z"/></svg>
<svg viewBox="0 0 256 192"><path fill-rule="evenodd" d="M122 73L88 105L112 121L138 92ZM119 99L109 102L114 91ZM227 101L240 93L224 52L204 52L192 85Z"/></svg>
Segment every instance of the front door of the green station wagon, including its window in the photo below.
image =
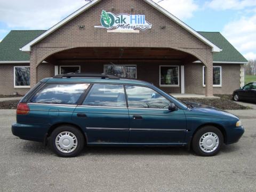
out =
<svg viewBox="0 0 256 192"><path fill-rule="evenodd" d="M130 143L183 143L186 117L169 111L170 101L144 86L125 86L130 118Z"/></svg>

